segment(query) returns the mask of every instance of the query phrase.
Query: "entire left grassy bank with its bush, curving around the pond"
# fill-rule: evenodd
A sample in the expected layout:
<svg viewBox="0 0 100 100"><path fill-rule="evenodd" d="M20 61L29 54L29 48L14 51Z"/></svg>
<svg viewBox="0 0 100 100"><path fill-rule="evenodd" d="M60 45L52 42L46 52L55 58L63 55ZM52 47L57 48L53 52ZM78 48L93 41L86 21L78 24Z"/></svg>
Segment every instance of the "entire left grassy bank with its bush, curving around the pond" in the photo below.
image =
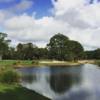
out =
<svg viewBox="0 0 100 100"><path fill-rule="evenodd" d="M0 100L49 100L34 91L23 88L15 80L17 74L15 74L14 66L30 66L32 63L32 61L0 61Z"/></svg>

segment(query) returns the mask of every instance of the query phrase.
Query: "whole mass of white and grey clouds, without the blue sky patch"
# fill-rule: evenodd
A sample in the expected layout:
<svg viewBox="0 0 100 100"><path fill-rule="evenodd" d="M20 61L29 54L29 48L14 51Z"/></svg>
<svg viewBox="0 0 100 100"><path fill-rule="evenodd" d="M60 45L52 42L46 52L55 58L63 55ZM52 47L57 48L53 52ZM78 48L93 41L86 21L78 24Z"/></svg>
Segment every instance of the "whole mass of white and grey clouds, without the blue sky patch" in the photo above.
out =
<svg viewBox="0 0 100 100"><path fill-rule="evenodd" d="M26 2L26 1L25 1ZM26 3L15 8L28 8ZM72 40L79 41L85 49L100 47L100 4L89 4L87 0L52 0L53 15L36 19L27 13L5 18L0 13L3 28L14 43L34 42L39 46L48 43L56 33L63 33ZM32 6L32 5L31 5ZM34 13L34 12L33 12Z"/></svg>

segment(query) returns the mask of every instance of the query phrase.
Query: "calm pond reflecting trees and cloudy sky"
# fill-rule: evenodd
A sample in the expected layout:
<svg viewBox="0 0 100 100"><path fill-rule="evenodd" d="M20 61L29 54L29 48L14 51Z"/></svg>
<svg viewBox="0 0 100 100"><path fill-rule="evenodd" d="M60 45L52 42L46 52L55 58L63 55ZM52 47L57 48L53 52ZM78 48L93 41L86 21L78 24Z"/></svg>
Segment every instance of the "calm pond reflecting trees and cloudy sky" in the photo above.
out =
<svg viewBox="0 0 100 100"><path fill-rule="evenodd" d="M51 100L99 100L97 65L21 68L21 85Z"/></svg>

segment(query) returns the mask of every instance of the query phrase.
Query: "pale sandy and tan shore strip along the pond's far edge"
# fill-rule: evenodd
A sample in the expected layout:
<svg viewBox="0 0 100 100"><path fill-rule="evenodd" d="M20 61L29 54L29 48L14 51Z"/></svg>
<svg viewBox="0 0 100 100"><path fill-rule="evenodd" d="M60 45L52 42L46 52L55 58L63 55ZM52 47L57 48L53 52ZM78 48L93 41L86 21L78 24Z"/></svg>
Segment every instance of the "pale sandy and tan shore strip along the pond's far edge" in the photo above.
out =
<svg viewBox="0 0 100 100"><path fill-rule="evenodd" d="M96 64L95 60L79 60L77 62L70 62L70 61L38 61L38 64L29 64L29 65L24 65L24 64L17 64L14 65L14 68L27 68L27 67L42 67L42 66L78 66L81 64Z"/></svg>

